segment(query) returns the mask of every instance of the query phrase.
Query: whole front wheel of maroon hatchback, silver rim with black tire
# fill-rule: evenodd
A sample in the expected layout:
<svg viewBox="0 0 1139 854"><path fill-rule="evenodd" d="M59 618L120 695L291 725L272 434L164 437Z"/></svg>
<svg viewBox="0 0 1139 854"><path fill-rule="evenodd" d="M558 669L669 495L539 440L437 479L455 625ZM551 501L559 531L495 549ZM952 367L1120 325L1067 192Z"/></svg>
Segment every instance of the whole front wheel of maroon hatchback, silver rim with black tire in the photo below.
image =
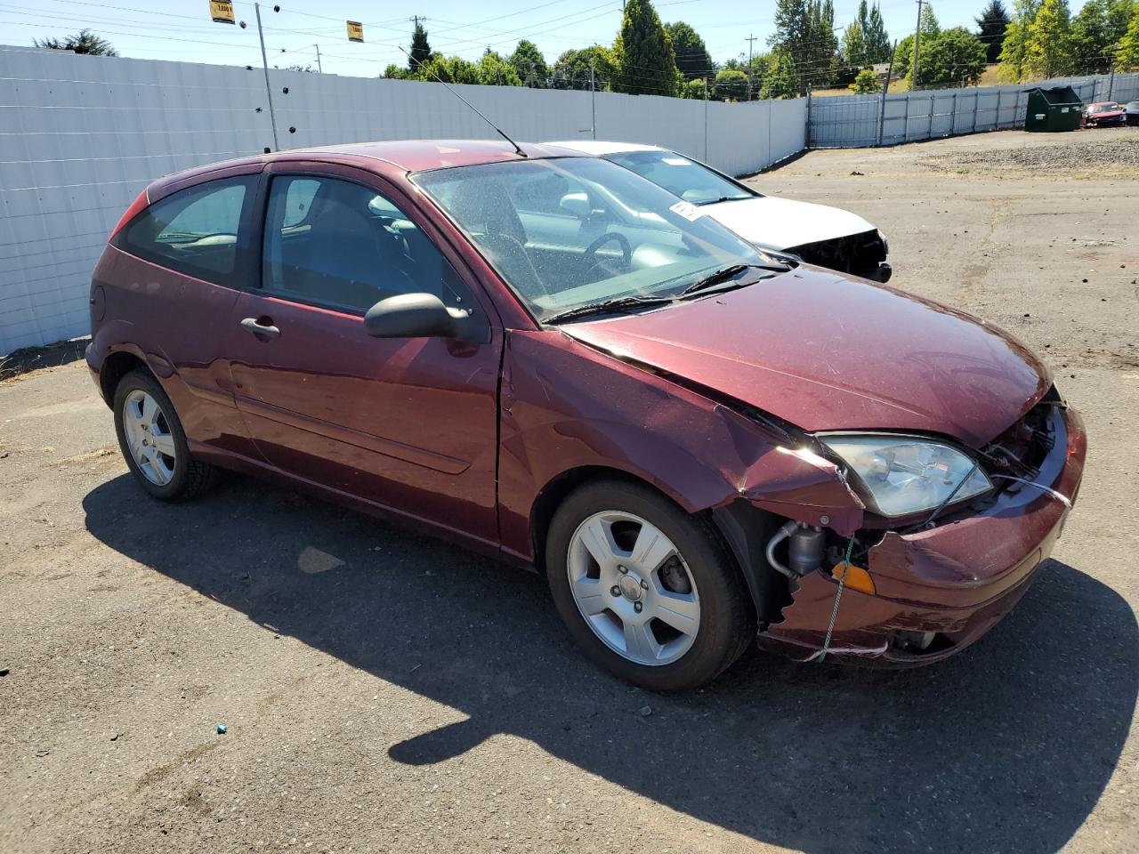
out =
<svg viewBox="0 0 1139 854"><path fill-rule="evenodd" d="M711 527L637 484L587 484L558 508L546 570L584 652L656 691L700 685L755 637L755 608Z"/></svg>

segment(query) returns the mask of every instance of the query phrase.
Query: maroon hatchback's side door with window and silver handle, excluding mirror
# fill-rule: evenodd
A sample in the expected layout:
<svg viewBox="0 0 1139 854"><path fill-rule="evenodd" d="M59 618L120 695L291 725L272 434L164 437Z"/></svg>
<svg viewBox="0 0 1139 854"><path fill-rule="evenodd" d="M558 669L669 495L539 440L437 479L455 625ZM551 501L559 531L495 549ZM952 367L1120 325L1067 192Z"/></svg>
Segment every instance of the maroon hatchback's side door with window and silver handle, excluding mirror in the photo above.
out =
<svg viewBox="0 0 1139 854"><path fill-rule="evenodd" d="M306 481L497 542L502 335L477 282L375 175L274 164L263 194L260 286L238 299L228 332L237 405L261 454ZM421 291L474 310L485 343L366 332L376 302Z"/></svg>

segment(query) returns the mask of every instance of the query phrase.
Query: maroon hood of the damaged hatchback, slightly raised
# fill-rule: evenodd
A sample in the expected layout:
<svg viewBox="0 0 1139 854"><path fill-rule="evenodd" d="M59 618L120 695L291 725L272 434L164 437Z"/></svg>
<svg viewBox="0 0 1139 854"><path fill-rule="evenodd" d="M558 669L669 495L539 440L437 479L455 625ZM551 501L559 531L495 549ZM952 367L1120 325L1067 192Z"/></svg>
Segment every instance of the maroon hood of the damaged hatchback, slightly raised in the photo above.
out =
<svg viewBox="0 0 1139 854"><path fill-rule="evenodd" d="M812 266L559 328L810 432L909 430L980 447L1051 385L1024 344L983 320Z"/></svg>

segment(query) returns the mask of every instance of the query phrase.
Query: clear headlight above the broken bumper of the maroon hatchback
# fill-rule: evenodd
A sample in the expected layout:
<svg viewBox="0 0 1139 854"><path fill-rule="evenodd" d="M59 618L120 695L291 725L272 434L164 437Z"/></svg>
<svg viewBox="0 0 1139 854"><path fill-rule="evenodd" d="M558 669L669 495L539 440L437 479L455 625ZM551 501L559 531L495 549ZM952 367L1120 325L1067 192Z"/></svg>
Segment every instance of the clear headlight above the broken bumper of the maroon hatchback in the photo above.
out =
<svg viewBox="0 0 1139 854"><path fill-rule="evenodd" d="M942 442L887 435L818 438L850 467L859 496L880 516L933 510L992 488L980 466Z"/></svg>

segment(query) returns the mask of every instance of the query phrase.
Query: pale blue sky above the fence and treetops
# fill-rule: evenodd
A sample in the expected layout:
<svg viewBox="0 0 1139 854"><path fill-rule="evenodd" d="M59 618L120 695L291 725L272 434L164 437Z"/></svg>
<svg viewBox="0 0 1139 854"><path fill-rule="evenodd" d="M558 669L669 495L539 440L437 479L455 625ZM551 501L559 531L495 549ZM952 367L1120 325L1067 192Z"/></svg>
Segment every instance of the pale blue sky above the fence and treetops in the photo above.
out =
<svg viewBox="0 0 1139 854"><path fill-rule="evenodd" d="M986 0L939 0L941 25L973 28L973 18ZM311 63L320 44L326 73L376 76L388 63L407 61L398 44L408 44L412 14L426 17L432 48L477 58L487 44L509 54L518 39L538 43L552 61L563 50L593 42L608 44L621 24L621 0L506 0L470 3L462 0L421 0L400 5L368 0L281 0L262 3L262 23L270 65ZM1073 11L1082 3L1073 0ZM1006 0L1011 7L1011 0ZM913 31L915 0L882 0L891 39ZM835 0L836 24L845 26L858 0ZM237 18L247 26L214 24L207 0L31 0L23 6L0 2L0 43L30 44L32 39L62 35L83 26L110 41L123 56L180 59L223 65L260 65L261 52L253 2L236 2ZM748 35L761 50L772 31L775 0L743 6L732 0L662 0L665 22L686 20L704 38L713 59L746 54ZM346 19L364 24L363 44L349 42Z"/></svg>

